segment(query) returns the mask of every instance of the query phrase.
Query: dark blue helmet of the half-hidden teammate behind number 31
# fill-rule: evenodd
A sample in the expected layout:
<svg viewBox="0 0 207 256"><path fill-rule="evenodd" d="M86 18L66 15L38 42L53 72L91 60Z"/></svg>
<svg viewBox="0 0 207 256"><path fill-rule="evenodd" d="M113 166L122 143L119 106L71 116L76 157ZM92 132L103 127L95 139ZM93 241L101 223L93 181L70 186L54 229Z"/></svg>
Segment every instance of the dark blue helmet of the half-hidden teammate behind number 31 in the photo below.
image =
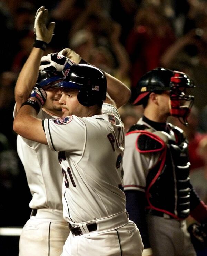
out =
<svg viewBox="0 0 207 256"><path fill-rule="evenodd" d="M40 70L37 78L39 86L54 85L63 79L63 72Z"/></svg>

